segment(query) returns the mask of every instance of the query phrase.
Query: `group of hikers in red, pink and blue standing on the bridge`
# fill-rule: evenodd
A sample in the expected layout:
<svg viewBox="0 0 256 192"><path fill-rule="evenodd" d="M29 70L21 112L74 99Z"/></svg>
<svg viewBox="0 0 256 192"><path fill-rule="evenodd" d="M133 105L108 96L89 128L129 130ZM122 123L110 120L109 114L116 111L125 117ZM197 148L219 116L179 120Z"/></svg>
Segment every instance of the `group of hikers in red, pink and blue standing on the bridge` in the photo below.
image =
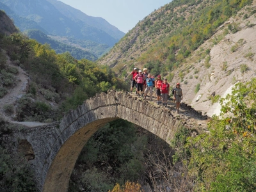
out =
<svg viewBox="0 0 256 192"><path fill-rule="evenodd" d="M149 93L150 100L152 100L153 90L156 88L157 104L167 106L168 95L170 94L170 84L167 83L167 79L161 79L161 75L157 76L157 79L151 74L148 74L148 69L143 68L143 72L134 68L130 74L132 76L131 93L134 87L136 88L136 95L138 97L144 97L147 99ZM179 113L180 102L182 100L182 89L180 84L177 83L176 87L172 90L173 100L176 102L176 110Z"/></svg>

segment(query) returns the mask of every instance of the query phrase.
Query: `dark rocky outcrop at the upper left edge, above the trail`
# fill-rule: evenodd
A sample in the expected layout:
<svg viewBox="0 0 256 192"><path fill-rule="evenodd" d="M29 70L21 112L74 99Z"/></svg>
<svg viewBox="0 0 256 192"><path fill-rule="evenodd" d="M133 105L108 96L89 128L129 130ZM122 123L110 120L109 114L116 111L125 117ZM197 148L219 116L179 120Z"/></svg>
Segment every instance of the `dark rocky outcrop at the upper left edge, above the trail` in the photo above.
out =
<svg viewBox="0 0 256 192"><path fill-rule="evenodd" d="M13 21L0 10L0 34L11 35L12 33L17 33L19 30L13 24Z"/></svg>

